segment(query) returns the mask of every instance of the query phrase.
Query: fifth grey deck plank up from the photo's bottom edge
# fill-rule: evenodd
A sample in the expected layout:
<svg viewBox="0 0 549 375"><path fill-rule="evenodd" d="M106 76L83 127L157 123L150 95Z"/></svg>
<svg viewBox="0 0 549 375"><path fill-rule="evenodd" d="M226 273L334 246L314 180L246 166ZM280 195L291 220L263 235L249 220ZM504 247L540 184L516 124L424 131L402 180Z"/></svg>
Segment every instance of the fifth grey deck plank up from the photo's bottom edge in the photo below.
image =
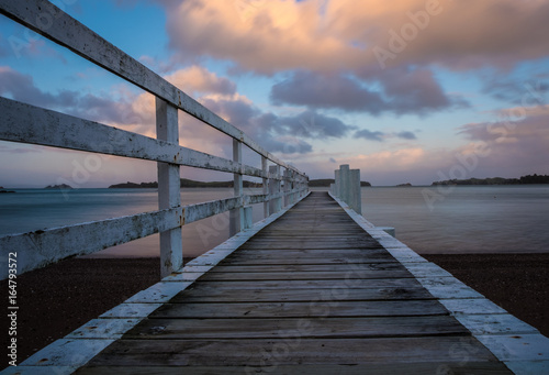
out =
<svg viewBox="0 0 549 375"><path fill-rule="evenodd" d="M411 279L413 280L413 279ZM366 282L362 282L367 284ZM352 283L349 283L349 285ZM357 283L358 284L358 283ZM333 289L282 289L282 290L211 290L204 295L198 288L184 290L170 302L284 302L284 301L367 301L391 299L434 299L424 288L348 288L341 284Z"/></svg>

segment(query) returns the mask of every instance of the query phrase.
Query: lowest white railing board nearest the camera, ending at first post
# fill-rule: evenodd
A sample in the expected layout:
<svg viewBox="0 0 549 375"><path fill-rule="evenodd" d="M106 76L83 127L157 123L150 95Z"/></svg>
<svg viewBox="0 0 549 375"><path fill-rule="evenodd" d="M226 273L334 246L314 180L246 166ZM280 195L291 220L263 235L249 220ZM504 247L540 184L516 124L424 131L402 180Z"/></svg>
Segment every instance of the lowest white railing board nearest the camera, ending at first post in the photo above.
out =
<svg viewBox="0 0 549 375"><path fill-rule="evenodd" d="M139 213L116 219L0 236L0 254L18 253L18 274L44 267L71 255L141 239L181 225L181 208ZM8 277L8 268L1 273Z"/></svg>

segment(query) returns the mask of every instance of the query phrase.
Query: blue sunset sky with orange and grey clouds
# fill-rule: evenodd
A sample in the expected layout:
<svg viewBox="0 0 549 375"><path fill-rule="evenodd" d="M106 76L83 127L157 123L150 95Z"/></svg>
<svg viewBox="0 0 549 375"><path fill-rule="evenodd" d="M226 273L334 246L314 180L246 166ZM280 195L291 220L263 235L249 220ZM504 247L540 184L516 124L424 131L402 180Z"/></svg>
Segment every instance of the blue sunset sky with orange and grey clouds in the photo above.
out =
<svg viewBox="0 0 549 375"><path fill-rule="evenodd" d="M545 0L53 2L310 178L549 174ZM3 15L0 96L156 136L152 95ZM232 157L224 134L179 125L181 145ZM0 161L3 187L156 180L153 162L3 141Z"/></svg>

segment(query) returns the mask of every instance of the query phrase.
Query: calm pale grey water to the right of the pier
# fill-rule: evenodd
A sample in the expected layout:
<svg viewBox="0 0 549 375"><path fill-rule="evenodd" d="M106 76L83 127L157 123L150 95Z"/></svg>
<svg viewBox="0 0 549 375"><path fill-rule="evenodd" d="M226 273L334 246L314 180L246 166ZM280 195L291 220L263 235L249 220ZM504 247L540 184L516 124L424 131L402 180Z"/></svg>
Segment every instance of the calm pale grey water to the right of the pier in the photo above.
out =
<svg viewBox="0 0 549 375"><path fill-rule="evenodd" d="M444 189L444 187L442 187ZM448 188L446 188L448 189ZM549 252L549 186L362 188L362 214L418 253ZM438 194L432 207L426 202Z"/></svg>

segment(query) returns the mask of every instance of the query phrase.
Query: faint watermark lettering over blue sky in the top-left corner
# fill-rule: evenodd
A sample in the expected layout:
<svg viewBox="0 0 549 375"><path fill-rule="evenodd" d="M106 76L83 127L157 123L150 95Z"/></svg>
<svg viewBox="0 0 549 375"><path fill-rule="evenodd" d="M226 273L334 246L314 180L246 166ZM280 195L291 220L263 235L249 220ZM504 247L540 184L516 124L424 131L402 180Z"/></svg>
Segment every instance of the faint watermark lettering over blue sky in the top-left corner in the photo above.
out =
<svg viewBox="0 0 549 375"><path fill-rule="evenodd" d="M77 0L51 0L51 2L61 11L65 11L67 5L75 4ZM55 10L51 7L44 7L43 11L36 15L36 25L43 31L48 31L55 24L56 19L63 14L63 12L55 12ZM27 27L23 31L22 36L23 37L10 35L8 37L8 43L10 44L16 58L21 58L23 49L31 48L36 42L44 38L44 36L31 31Z"/></svg>

